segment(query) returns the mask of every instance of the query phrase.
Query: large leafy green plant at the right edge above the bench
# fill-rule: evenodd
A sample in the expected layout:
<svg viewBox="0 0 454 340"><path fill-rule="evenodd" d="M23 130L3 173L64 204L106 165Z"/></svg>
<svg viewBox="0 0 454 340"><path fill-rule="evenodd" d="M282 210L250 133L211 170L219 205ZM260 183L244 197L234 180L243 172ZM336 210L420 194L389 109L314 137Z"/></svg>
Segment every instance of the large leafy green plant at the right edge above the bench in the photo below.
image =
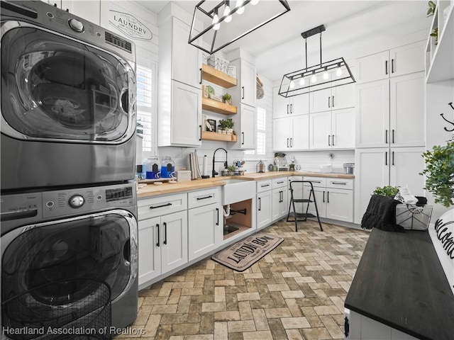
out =
<svg viewBox="0 0 454 340"><path fill-rule="evenodd" d="M426 176L424 188L433 194L435 203L454 205L454 142L443 147L436 145L422 156L426 162L426 169L420 173Z"/></svg>

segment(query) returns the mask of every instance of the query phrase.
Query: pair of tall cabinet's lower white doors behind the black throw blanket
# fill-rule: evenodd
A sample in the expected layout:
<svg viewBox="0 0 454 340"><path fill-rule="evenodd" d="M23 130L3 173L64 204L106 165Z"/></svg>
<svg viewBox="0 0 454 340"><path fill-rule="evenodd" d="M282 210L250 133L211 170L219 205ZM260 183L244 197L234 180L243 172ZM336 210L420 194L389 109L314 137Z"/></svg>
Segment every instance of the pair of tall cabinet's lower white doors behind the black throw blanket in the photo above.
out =
<svg viewBox="0 0 454 340"><path fill-rule="evenodd" d="M357 149L355 152L355 223L360 224L377 186L407 186L412 195L424 196L423 147Z"/></svg>

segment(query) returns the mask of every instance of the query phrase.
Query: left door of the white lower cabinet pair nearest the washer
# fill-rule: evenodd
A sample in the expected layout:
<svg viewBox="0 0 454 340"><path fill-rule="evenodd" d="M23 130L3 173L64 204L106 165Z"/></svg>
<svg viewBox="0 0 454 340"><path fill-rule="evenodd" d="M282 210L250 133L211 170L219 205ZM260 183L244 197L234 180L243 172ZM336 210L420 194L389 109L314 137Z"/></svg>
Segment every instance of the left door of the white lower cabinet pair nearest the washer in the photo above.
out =
<svg viewBox="0 0 454 340"><path fill-rule="evenodd" d="M139 285L161 275L160 217L138 222Z"/></svg>

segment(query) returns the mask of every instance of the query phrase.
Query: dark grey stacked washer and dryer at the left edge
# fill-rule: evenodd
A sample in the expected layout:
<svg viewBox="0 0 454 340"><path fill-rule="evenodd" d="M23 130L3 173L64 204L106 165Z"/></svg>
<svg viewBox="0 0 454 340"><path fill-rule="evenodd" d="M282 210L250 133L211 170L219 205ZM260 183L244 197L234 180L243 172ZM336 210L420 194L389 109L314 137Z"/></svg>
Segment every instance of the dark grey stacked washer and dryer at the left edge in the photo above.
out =
<svg viewBox="0 0 454 340"><path fill-rule="evenodd" d="M74 280L105 283L111 326L126 327L138 302L134 45L42 1L2 0L0 32L2 329L26 319L17 297L24 310L86 308L94 291Z"/></svg>

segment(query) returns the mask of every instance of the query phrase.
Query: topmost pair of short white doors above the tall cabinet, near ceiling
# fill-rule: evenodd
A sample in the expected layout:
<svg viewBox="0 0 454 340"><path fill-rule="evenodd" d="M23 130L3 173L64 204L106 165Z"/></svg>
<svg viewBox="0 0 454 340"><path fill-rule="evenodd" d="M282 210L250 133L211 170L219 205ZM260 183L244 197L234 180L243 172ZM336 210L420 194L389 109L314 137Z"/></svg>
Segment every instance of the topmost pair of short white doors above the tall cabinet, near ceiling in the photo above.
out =
<svg viewBox="0 0 454 340"><path fill-rule="evenodd" d="M424 41L419 41L359 58L356 81L365 83L423 71L424 45Z"/></svg>

